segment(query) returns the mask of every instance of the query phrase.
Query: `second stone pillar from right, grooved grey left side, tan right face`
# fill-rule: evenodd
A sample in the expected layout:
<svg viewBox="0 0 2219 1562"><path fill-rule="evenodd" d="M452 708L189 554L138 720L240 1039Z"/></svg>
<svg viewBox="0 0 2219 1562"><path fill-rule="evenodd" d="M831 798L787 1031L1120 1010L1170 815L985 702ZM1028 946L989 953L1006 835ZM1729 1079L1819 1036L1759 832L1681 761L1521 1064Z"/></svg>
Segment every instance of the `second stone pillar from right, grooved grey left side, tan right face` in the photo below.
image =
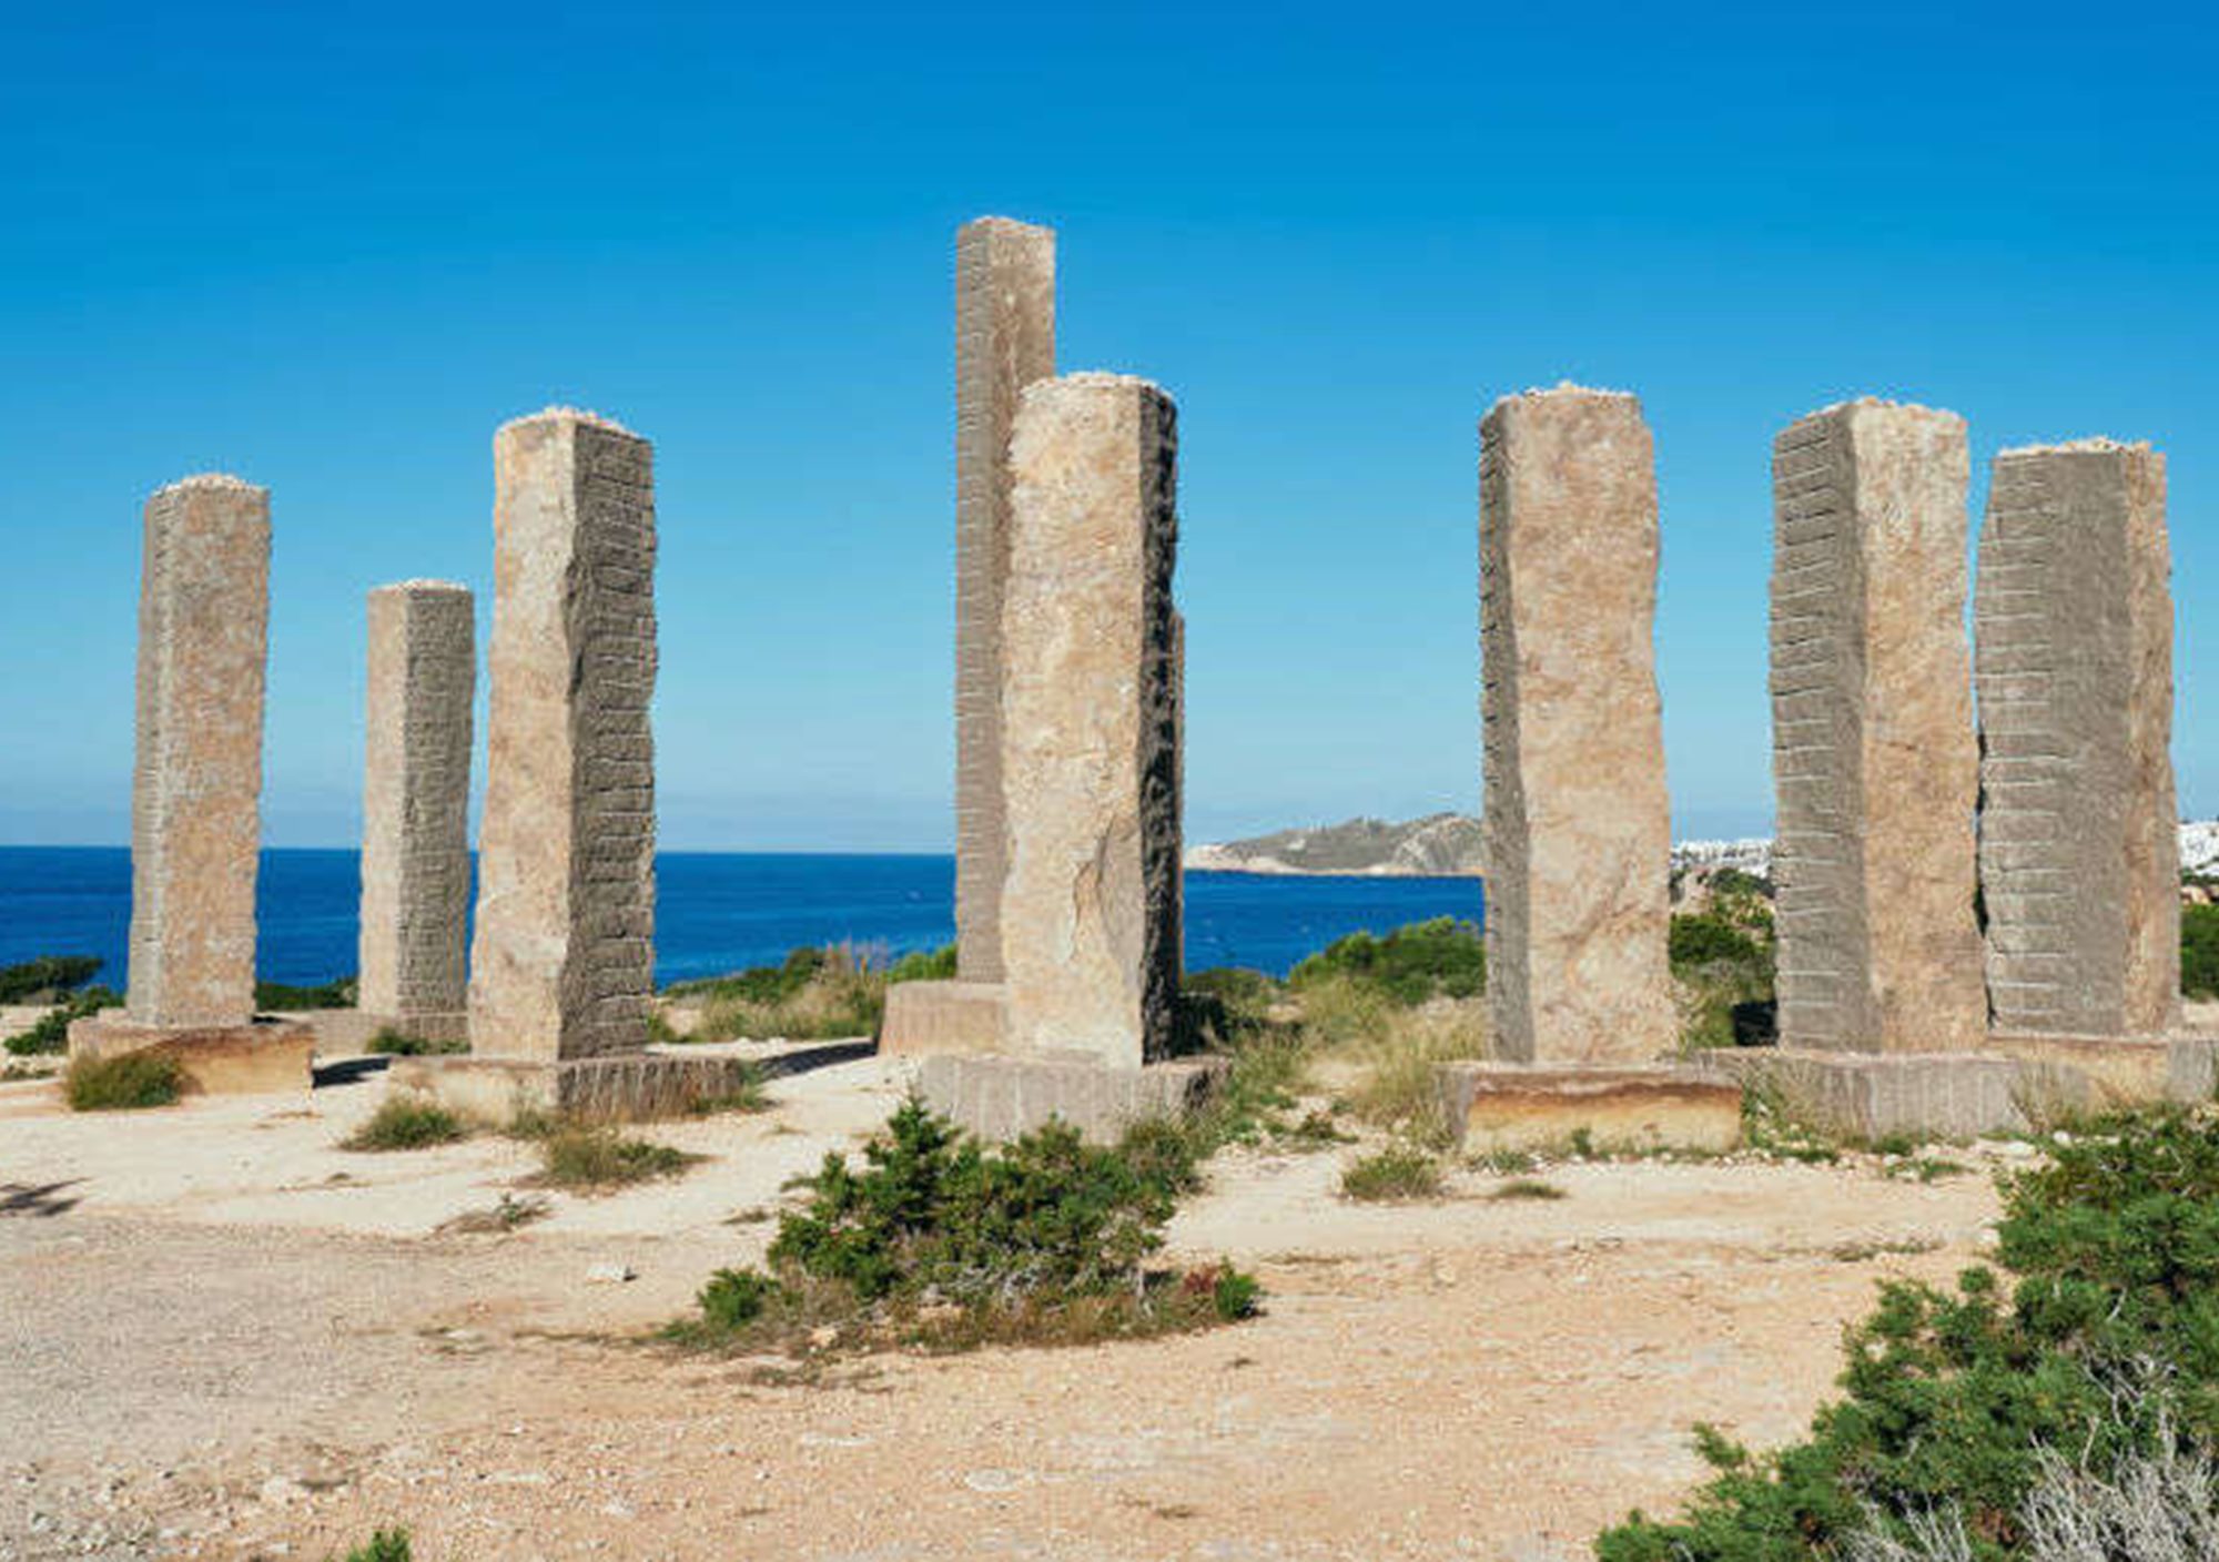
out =
<svg viewBox="0 0 2219 1562"><path fill-rule="evenodd" d="M1846 402L1773 442L1780 1041L1964 1052L1973 923L1964 419Z"/></svg>

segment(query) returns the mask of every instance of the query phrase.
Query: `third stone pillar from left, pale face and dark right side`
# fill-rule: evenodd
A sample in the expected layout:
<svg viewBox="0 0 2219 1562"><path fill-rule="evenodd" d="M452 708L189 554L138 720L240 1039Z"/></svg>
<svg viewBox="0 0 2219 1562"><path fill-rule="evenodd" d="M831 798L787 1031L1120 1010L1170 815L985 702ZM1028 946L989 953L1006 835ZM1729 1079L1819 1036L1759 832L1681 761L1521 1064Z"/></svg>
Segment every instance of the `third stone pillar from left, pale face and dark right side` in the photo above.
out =
<svg viewBox="0 0 2219 1562"><path fill-rule="evenodd" d="M493 459L470 1049L632 1052L655 990L652 450L550 408L504 426Z"/></svg>

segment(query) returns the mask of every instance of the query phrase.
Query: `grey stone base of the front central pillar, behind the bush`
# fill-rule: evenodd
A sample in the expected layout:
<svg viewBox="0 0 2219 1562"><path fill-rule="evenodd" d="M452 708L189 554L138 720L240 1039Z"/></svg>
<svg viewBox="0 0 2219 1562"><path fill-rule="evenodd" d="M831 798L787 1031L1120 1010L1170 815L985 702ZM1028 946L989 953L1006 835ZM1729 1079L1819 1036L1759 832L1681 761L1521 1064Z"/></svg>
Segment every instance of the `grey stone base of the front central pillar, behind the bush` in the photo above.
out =
<svg viewBox="0 0 2219 1562"><path fill-rule="evenodd" d="M925 1105L987 1140L1019 1138L1063 1118L1107 1145L1134 1123L1194 1112L1225 1074L1223 1058L1178 1058L1136 1069L1085 1058L1012 1058L943 1052L916 1076Z"/></svg>

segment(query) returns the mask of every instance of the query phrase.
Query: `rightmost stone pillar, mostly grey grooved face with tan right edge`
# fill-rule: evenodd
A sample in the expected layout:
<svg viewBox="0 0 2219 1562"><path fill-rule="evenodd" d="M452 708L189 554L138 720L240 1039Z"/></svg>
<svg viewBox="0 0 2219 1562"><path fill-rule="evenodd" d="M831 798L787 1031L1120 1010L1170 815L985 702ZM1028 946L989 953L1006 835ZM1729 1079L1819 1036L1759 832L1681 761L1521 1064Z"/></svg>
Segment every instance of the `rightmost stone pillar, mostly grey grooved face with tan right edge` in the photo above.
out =
<svg viewBox="0 0 2219 1562"><path fill-rule="evenodd" d="M2179 1021L2166 457L1995 457L1979 537L1979 883L1997 1030Z"/></svg>

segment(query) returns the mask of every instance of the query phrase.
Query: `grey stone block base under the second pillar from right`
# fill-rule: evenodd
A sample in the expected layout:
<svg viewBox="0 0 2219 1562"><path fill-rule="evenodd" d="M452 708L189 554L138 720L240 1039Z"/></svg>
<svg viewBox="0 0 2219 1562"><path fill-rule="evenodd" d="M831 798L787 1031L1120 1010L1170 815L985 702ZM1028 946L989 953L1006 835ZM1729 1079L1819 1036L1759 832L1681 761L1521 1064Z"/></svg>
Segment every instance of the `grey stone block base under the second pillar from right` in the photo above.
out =
<svg viewBox="0 0 2219 1562"><path fill-rule="evenodd" d="M1797 1123L1857 1140L2028 1134L2095 1105L2086 1074L1990 1052L1718 1047L1698 1067L1771 1092Z"/></svg>

